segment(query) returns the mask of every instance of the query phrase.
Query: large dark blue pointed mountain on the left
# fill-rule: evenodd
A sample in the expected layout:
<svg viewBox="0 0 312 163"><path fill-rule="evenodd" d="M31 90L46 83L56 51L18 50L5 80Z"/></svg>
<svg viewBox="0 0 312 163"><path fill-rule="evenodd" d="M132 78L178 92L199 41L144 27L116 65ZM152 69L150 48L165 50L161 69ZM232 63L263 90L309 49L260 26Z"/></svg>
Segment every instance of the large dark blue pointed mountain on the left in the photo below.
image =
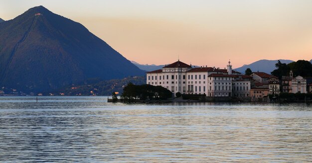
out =
<svg viewBox="0 0 312 163"><path fill-rule="evenodd" d="M82 24L43 6L0 23L0 29L1 87L39 92L90 78L144 75Z"/></svg>

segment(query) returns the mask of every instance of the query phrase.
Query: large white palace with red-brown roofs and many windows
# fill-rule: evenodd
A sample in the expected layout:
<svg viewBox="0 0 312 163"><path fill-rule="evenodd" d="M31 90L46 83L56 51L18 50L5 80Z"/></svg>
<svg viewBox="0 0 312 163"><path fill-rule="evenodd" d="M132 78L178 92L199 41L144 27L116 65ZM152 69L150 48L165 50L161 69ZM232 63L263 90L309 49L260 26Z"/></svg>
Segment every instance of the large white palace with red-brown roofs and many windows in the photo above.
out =
<svg viewBox="0 0 312 163"><path fill-rule="evenodd" d="M205 94L206 96L250 96L252 77L232 70L212 67L192 68L179 60L162 69L148 72L147 84L160 85L172 93Z"/></svg>

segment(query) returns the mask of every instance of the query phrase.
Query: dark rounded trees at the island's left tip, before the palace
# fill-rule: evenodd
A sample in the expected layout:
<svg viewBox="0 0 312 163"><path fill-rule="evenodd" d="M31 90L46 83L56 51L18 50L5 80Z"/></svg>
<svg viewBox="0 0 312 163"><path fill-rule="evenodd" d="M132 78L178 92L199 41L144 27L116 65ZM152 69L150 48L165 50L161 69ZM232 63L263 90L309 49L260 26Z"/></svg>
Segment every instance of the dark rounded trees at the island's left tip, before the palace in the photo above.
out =
<svg viewBox="0 0 312 163"><path fill-rule="evenodd" d="M121 99L125 102L132 102L135 99L165 100L171 97L171 91L162 86L154 86L150 84L135 85L131 82L125 86L124 92L121 95Z"/></svg>

